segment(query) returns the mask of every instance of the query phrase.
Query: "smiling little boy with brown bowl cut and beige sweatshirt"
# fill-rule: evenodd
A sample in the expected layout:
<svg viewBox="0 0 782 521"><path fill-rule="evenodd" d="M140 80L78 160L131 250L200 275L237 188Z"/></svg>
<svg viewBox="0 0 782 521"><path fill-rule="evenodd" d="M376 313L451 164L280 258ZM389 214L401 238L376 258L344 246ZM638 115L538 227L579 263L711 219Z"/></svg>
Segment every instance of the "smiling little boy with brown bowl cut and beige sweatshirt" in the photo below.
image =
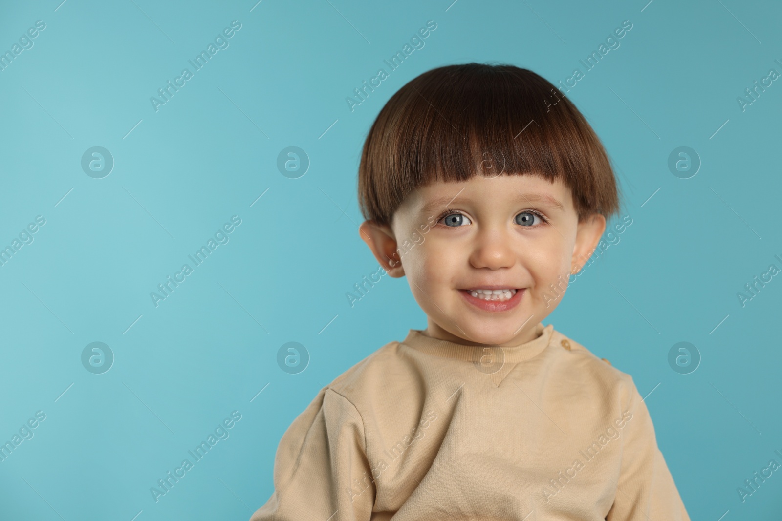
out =
<svg viewBox="0 0 782 521"><path fill-rule="evenodd" d="M321 389L251 521L689 521L633 378L541 323L619 211L572 102L515 66L430 70L379 113L358 188L427 327Z"/></svg>

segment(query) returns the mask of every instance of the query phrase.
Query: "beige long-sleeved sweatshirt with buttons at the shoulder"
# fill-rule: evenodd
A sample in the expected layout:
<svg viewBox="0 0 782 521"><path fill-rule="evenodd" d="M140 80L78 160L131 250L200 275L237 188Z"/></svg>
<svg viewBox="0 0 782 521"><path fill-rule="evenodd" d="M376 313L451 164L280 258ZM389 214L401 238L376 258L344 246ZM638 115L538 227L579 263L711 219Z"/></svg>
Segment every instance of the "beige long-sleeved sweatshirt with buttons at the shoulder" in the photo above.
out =
<svg viewBox="0 0 782 521"><path fill-rule="evenodd" d="M633 378L537 324L511 348L410 330L317 394L250 521L689 521Z"/></svg>

